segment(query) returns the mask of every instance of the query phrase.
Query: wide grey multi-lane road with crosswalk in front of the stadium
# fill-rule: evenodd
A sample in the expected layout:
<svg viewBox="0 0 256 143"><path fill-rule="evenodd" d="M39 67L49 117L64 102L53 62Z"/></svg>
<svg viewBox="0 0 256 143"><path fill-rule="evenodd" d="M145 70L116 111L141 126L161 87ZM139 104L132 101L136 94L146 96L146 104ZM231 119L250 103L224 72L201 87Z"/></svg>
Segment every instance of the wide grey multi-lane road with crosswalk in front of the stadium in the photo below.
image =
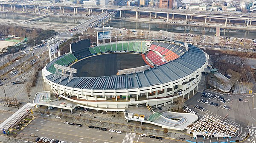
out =
<svg viewBox="0 0 256 143"><path fill-rule="evenodd" d="M65 140L76 143L169 143L170 139L157 140L149 137L141 137L138 134L123 132L122 134L97 129L89 129L88 125L82 127L71 126L63 123L63 120L52 121L44 118L36 118L30 123L18 137L32 135L38 137L48 137L58 140ZM108 129L109 130L109 129ZM113 136L113 139L111 139Z"/></svg>

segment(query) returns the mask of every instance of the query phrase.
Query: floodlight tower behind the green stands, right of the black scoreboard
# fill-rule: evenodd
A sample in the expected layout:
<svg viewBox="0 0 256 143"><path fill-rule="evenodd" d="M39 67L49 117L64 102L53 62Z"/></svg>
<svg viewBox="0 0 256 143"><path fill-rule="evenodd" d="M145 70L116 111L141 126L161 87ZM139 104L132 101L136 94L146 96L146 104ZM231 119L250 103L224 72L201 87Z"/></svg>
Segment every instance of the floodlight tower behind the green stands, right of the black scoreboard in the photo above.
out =
<svg viewBox="0 0 256 143"><path fill-rule="evenodd" d="M105 39L109 39L109 42L111 42L111 30L113 30L113 27L102 27L102 28L94 28L94 31L97 32L97 45L99 45L99 40L103 40L103 43L105 44Z"/></svg>

